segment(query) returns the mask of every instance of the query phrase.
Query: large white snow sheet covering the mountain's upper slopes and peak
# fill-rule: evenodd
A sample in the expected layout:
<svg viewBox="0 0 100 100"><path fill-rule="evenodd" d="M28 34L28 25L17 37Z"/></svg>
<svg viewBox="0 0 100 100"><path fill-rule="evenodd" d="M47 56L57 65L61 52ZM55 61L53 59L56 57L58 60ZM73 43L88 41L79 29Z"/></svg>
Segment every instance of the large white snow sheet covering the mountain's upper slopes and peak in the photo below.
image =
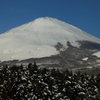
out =
<svg viewBox="0 0 100 100"><path fill-rule="evenodd" d="M79 47L76 41L100 43L100 39L55 18L43 17L0 35L0 61L40 58L58 54L58 42L67 48L67 41Z"/></svg>

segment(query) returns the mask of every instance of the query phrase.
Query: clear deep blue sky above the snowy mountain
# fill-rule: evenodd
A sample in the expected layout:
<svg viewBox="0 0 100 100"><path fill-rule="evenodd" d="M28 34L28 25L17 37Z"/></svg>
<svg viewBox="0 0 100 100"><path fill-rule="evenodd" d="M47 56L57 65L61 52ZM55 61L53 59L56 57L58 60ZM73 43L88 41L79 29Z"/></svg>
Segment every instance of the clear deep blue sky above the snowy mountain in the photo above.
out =
<svg viewBox="0 0 100 100"><path fill-rule="evenodd" d="M0 34L39 17L52 17L100 38L100 0L0 0Z"/></svg>

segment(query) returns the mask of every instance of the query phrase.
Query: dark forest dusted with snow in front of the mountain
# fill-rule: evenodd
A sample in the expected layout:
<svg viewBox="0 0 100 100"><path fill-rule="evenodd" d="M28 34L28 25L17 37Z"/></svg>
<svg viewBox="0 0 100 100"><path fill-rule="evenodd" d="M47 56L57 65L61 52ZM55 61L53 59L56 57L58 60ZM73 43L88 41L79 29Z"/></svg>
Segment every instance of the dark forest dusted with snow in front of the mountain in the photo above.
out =
<svg viewBox="0 0 100 100"><path fill-rule="evenodd" d="M100 100L100 74L4 65L0 67L0 100Z"/></svg>

